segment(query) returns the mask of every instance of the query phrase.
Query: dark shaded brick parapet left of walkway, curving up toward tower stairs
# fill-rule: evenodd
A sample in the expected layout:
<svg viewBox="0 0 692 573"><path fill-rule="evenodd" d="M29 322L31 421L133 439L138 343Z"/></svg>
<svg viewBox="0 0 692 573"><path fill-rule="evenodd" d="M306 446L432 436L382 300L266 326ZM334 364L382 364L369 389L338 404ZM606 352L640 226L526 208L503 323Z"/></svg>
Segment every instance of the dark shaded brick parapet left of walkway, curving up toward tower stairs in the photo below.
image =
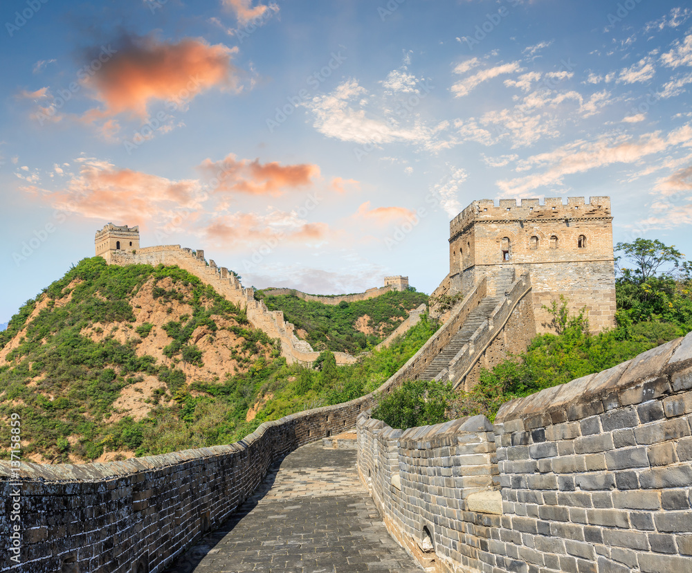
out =
<svg viewBox="0 0 692 573"><path fill-rule="evenodd" d="M167 256L159 253L170 248L161 249L144 253L147 264L167 264ZM113 255L120 257L120 253ZM182 268L197 269L197 264ZM455 309L450 321L456 328L480 298L480 293L470 294ZM448 334L452 327L448 323L439 332ZM376 393L386 394L425 370L437 356L438 344L435 337L430 338L376 392L264 422L230 446L105 464L21 462L19 480L17 469L0 461L6 500L0 504L0 552L10 555L10 493L17 482L21 484L22 527L21 564L5 560L0 572L163 571L253 493L269 464L302 444L353 428L358 414L374 406Z"/></svg>

